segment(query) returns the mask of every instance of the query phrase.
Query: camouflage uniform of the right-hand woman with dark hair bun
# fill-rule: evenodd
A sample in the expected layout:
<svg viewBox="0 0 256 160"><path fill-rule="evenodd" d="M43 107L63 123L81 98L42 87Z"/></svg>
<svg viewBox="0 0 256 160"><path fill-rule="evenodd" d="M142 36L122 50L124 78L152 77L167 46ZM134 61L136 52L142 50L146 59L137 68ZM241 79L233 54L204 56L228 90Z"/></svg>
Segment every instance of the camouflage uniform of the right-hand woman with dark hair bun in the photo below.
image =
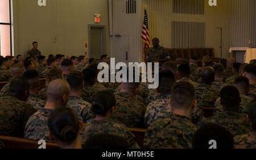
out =
<svg viewBox="0 0 256 160"><path fill-rule="evenodd" d="M121 123L117 123L110 119L105 120L92 120L90 123L86 123L81 132L82 146L85 145L86 141L96 134L111 134L114 136L123 137L127 140L127 144L137 144L133 133Z"/></svg>

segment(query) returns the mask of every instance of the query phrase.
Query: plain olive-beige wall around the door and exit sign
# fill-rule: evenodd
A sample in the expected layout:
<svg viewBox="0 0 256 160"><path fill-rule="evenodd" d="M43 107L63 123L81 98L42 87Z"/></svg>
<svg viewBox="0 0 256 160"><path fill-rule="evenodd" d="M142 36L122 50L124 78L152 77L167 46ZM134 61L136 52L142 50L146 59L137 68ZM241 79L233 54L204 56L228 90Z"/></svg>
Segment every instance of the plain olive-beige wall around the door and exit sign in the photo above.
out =
<svg viewBox="0 0 256 160"><path fill-rule="evenodd" d="M13 0L13 11L15 55L26 57L33 41L38 41L45 56L88 54L84 43L89 24L105 25L105 53L110 54L108 0L46 0L46 6L35 0ZM94 23L94 14L101 14L100 23Z"/></svg>

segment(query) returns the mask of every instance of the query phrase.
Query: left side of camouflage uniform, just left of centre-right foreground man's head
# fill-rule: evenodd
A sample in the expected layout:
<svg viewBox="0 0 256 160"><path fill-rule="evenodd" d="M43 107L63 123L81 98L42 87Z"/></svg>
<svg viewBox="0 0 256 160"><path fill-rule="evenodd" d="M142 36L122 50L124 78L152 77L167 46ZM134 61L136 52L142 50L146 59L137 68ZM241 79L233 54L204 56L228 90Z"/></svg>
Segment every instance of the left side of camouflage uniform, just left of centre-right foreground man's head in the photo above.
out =
<svg viewBox="0 0 256 160"><path fill-rule="evenodd" d="M146 128L154 121L171 117L174 112L170 104L171 95L162 95L147 106L144 124Z"/></svg>

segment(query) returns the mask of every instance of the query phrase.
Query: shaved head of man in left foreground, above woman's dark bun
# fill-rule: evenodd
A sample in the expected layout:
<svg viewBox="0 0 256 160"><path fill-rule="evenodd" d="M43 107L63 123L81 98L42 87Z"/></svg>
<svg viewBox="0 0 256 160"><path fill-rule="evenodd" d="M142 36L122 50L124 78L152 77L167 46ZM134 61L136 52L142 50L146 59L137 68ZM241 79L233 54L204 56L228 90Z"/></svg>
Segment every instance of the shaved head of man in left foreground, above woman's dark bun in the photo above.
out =
<svg viewBox="0 0 256 160"><path fill-rule="evenodd" d="M60 103L65 106L68 102L71 89L68 82L62 79L51 81L47 87L47 102Z"/></svg>

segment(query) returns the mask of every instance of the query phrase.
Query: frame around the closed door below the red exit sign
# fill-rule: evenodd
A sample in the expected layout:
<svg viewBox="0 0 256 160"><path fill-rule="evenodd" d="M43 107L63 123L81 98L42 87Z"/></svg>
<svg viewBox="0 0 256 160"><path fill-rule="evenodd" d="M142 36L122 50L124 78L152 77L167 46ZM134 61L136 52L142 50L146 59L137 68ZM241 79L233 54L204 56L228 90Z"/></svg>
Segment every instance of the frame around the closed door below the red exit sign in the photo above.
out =
<svg viewBox="0 0 256 160"><path fill-rule="evenodd" d="M100 25L100 24L89 24L88 25L88 43L89 43L89 47L88 47L88 57L90 57L90 30L92 28L96 28L96 29L101 29L101 56L105 54L105 25Z"/></svg>

